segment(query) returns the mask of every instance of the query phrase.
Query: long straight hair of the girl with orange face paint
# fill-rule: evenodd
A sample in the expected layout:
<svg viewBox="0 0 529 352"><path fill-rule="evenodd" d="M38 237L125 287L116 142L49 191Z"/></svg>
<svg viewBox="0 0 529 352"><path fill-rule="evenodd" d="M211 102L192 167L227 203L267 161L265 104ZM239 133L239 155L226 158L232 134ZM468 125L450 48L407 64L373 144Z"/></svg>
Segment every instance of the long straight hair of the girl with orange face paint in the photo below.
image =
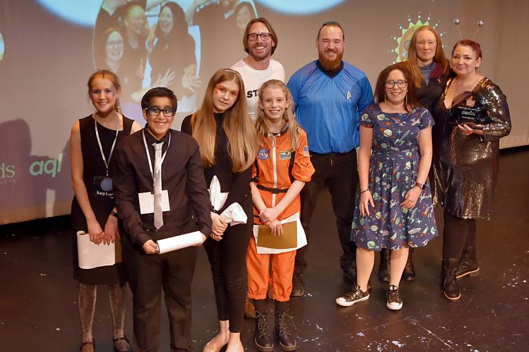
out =
<svg viewBox="0 0 529 352"><path fill-rule="evenodd" d="M204 102L191 118L193 137L200 146L202 164L215 164L216 123L214 117L213 91L218 83L233 81L239 87L239 94L232 107L224 112L222 128L228 137L228 153L233 164L232 171L240 173L249 168L257 155L256 129L248 116L245 98L245 84L238 72L219 69L207 84Z"/></svg>

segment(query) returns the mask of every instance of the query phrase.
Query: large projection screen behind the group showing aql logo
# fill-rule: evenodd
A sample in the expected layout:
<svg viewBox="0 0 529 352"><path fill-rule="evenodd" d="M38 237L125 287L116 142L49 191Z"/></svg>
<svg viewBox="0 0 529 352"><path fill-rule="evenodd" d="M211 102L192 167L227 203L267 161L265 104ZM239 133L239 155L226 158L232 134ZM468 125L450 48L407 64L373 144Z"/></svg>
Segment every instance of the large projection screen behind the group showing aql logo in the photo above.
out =
<svg viewBox="0 0 529 352"><path fill-rule="evenodd" d="M479 71L504 91L512 118L501 147L529 144L521 96L529 82L529 49L521 45L529 33L529 1L180 0L171 5L171 19L160 14L165 2L0 1L0 223L70 212L68 138L74 122L94 111L86 82L95 69L117 72L123 113L141 124L143 92L156 85L174 89L179 129L200 107L211 74L245 56L242 32L253 17L266 17L278 33L273 57L287 79L317 58L320 25L340 22L344 60L366 72L371 85L384 67L406 60L417 26L435 27L450 56L458 30L472 38L484 21L475 34L484 53ZM156 36L158 20L172 30L170 41ZM131 36L135 52L128 49ZM162 45L172 56L154 55Z"/></svg>

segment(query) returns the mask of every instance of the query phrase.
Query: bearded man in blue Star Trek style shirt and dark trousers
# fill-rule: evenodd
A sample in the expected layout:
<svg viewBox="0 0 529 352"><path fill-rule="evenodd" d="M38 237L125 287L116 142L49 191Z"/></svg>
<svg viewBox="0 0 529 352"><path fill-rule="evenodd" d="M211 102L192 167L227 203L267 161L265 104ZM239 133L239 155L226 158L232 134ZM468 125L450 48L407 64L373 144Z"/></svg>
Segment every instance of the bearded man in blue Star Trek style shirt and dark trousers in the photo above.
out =
<svg viewBox="0 0 529 352"><path fill-rule="evenodd" d="M373 91L364 72L342 61L345 36L337 22L326 22L316 38L318 60L298 69L289 87L298 122L307 131L315 173L301 191L301 223L309 239L309 227L318 195L327 185L336 215L338 236L344 253L340 266L344 279L356 282L356 245L350 241L355 210L359 144L358 119L373 104ZM291 296L303 296L305 252L295 256Z"/></svg>

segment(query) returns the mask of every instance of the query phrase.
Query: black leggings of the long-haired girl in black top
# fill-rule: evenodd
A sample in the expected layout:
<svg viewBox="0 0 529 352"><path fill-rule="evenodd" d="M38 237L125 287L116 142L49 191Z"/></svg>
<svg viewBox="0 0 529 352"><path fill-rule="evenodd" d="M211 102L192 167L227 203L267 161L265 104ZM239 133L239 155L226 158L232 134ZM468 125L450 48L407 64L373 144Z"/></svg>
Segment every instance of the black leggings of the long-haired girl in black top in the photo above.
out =
<svg viewBox="0 0 529 352"><path fill-rule="evenodd" d="M218 320L229 320L229 331L240 333L245 317L248 292L246 252L251 236L253 214L249 223L229 226L220 241L207 239L207 252L217 303Z"/></svg>

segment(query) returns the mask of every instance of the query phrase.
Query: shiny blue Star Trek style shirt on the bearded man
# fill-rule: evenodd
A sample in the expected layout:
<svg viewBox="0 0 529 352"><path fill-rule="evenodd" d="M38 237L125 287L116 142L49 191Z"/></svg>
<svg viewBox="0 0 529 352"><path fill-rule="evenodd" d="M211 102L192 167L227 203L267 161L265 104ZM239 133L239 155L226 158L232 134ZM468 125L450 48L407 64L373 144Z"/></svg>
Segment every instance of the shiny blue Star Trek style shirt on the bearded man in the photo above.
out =
<svg viewBox="0 0 529 352"><path fill-rule="evenodd" d="M348 153L358 146L360 114L373 104L373 91L364 72L343 62L338 74L329 75L313 61L298 69L287 87L311 151Z"/></svg>

